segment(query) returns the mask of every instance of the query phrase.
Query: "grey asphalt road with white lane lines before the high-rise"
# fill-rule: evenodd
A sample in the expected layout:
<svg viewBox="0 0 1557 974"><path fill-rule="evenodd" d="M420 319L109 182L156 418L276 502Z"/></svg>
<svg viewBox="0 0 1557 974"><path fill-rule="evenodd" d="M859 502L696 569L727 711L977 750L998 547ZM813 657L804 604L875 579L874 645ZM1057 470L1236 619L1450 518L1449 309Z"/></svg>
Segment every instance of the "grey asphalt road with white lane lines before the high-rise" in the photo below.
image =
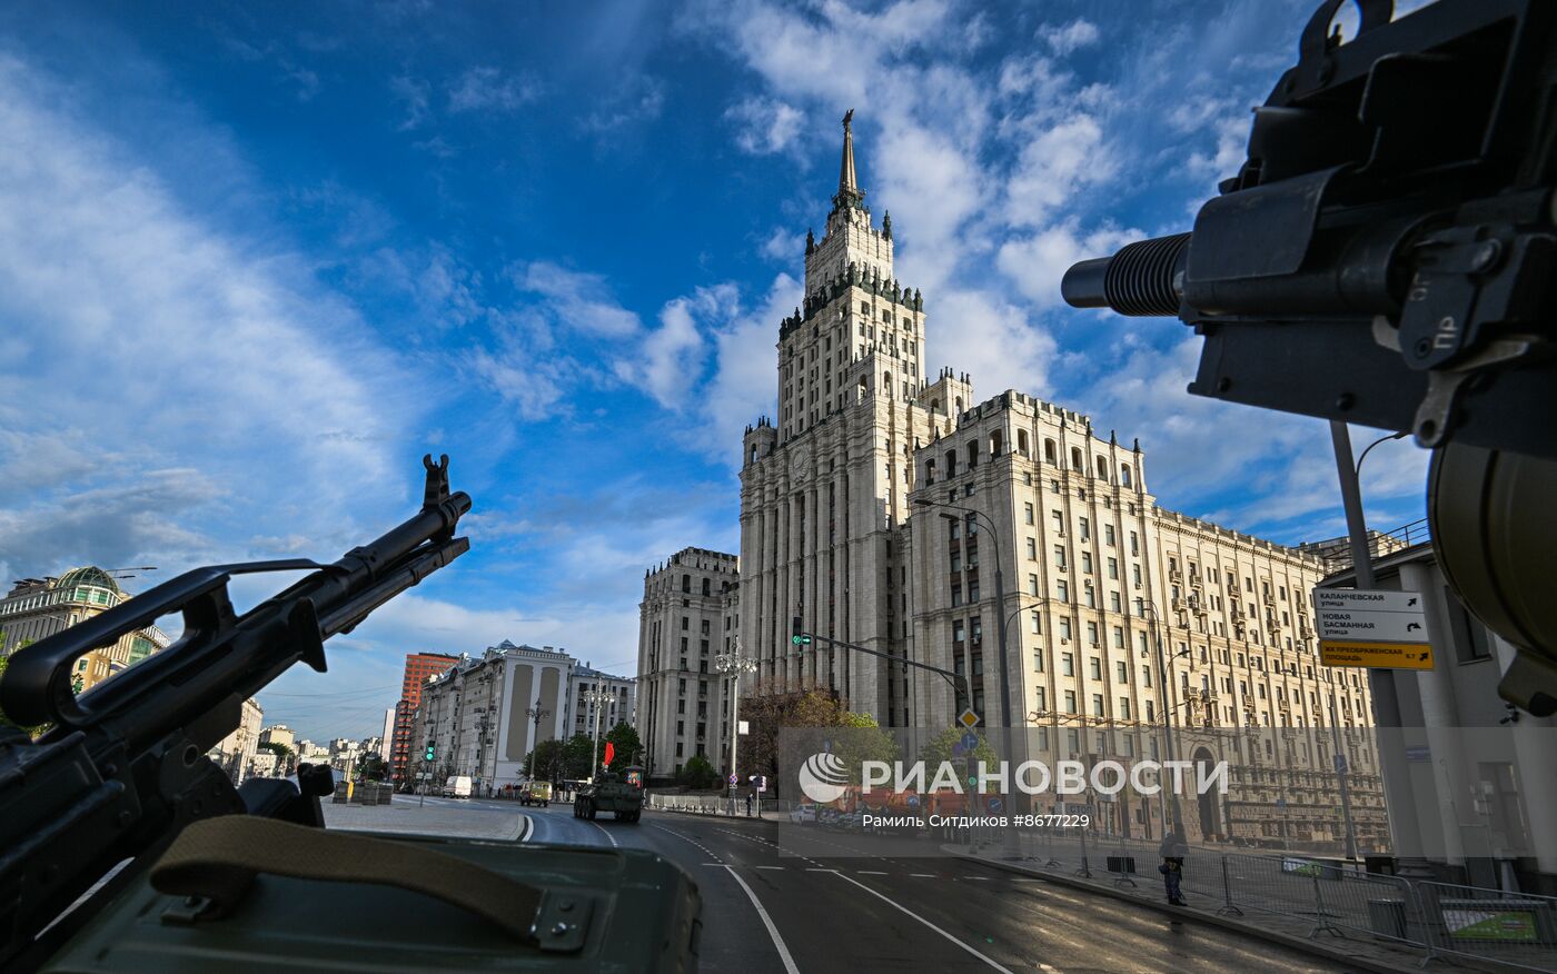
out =
<svg viewBox="0 0 1557 974"><path fill-rule="evenodd" d="M453 803L467 815L512 803ZM707 971L1336 971L1333 962L1067 885L926 856L917 840L645 811L523 809L528 842L660 853L704 898Z"/></svg>

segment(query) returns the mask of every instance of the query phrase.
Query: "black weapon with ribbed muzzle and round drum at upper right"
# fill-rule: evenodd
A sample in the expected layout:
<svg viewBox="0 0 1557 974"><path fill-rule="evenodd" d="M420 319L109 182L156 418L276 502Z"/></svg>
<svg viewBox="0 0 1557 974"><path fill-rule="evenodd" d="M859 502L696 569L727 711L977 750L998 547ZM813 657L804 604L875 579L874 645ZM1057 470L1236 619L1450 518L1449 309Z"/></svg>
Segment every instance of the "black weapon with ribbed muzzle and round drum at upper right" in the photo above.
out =
<svg viewBox="0 0 1557 974"><path fill-rule="evenodd" d="M1503 694L1557 711L1557 3L1319 6L1193 233L1073 266L1067 302L1179 316L1190 392L1411 431L1439 563L1532 650Z"/></svg>

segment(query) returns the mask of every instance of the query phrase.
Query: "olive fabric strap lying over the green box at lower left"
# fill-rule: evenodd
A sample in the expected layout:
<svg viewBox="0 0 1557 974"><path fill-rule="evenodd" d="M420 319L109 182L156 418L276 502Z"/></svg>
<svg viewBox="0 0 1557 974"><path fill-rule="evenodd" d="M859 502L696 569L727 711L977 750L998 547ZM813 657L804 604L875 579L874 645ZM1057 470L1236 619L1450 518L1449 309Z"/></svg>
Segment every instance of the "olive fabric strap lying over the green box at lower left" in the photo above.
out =
<svg viewBox="0 0 1557 974"><path fill-rule="evenodd" d="M190 902L199 909L182 916L170 913L167 920L215 920L243 901L260 873L422 893L547 951L582 948L590 913L585 896L548 895L455 856L254 815L192 823L153 867L151 885L162 893L209 901Z"/></svg>

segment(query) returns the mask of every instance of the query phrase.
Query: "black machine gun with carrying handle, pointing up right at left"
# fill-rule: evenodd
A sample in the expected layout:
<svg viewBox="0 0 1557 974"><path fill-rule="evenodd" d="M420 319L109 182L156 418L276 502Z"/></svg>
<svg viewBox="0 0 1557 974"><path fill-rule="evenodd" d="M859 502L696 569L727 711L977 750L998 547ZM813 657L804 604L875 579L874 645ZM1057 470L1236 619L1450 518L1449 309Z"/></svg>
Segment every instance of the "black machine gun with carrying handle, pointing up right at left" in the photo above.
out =
<svg viewBox="0 0 1557 974"><path fill-rule="evenodd" d="M206 752L238 727L244 699L299 660L324 672L325 639L469 551L455 529L470 496L448 492L447 456L422 462L422 510L332 565L196 568L11 658L0 708L17 723L51 728L37 741L14 730L0 739L0 969L36 966L48 946L39 932L132 860L112 881L123 887L193 822L246 811L308 820L277 801L276 789L246 789L244 798L268 806L248 808ZM234 613L232 576L299 569L310 574ZM173 646L75 695L78 658L174 611L184 633ZM327 790L329 769L321 770ZM285 783L255 784L307 798ZM73 910L50 929L50 943L87 918L90 910Z"/></svg>

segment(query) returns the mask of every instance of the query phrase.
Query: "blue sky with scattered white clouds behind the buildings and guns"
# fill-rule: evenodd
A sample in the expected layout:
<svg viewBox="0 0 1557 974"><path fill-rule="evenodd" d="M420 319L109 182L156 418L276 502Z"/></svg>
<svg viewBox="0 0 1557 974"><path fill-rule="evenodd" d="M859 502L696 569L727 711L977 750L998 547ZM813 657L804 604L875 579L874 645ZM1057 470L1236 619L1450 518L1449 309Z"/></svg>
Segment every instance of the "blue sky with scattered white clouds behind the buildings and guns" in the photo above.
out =
<svg viewBox="0 0 1557 974"><path fill-rule="evenodd" d="M740 433L772 412L849 107L926 369L1140 437L1168 507L1341 534L1323 423L1191 398L1188 328L1057 293L1188 229L1309 9L6 5L5 579L332 560L442 451L473 551L266 720L377 733L405 652L503 638L632 672L645 568L736 549ZM1370 456L1375 526L1422 517L1425 470Z"/></svg>

